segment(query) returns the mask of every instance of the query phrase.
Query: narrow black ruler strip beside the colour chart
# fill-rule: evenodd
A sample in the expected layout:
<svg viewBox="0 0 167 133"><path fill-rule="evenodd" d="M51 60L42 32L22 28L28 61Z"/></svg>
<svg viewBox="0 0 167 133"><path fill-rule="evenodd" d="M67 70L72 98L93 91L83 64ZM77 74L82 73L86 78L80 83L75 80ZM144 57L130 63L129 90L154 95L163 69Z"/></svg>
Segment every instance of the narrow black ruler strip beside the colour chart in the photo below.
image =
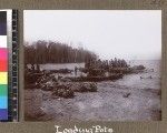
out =
<svg viewBox="0 0 167 133"><path fill-rule="evenodd" d="M8 121L18 121L18 10L12 10L12 47L11 49L11 66L9 66L9 91L8 91Z"/></svg>

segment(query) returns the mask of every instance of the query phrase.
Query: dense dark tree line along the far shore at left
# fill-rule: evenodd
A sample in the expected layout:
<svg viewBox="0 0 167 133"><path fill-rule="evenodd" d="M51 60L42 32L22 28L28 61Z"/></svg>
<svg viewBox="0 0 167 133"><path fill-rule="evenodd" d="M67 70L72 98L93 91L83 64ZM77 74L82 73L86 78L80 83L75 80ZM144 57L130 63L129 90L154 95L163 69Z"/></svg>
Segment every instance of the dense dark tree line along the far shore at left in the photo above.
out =
<svg viewBox="0 0 167 133"><path fill-rule="evenodd" d="M72 48L67 43L55 41L24 42L24 63L81 63L97 60L98 55L84 48Z"/></svg>

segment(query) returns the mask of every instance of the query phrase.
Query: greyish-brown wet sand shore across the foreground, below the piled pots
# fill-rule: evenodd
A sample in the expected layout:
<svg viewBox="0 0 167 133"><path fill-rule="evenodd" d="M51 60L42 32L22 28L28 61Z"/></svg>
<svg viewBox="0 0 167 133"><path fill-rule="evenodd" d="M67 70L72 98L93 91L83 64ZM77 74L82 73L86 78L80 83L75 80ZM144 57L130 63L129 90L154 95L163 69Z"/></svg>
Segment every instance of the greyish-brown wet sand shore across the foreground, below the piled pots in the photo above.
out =
<svg viewBox="0 0 167 133"><path fill-rule="evenodd" d="M76 93L73 99L53 99L50 92L26 90L26 121L160 120L158 89L127 88L117 82L97 85L98 92Z"/></svg>

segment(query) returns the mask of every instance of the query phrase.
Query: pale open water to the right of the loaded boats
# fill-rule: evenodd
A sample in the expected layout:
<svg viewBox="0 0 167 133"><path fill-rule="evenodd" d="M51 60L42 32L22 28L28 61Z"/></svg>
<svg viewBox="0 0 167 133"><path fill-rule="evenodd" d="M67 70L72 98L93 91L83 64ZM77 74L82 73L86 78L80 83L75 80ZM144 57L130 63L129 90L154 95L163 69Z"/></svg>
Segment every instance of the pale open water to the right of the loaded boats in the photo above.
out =
<svg viewBox="0 0 167 133"><path fill-rule="evenodd" d="M128 74L115 82L116 85L137 89L160 89L160 61L130 61L130 65L143 64L147 73ZM154 69L154 71L149 71ZM140 79L144 78L144 79ZM151 76L153 79L149 79Z"/></svg>

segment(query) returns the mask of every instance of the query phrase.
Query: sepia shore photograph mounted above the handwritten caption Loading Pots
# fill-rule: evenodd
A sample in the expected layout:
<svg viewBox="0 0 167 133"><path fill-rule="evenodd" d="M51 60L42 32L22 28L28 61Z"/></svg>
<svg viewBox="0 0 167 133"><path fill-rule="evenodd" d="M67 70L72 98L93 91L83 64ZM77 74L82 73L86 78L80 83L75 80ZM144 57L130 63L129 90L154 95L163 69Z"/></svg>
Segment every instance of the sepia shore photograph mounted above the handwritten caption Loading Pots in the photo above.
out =
<svg viewBox="0 0 167 133"><path fill-rule="evenodd" d="M160 10L24 10L26 121L160 121Z"/></svg>

